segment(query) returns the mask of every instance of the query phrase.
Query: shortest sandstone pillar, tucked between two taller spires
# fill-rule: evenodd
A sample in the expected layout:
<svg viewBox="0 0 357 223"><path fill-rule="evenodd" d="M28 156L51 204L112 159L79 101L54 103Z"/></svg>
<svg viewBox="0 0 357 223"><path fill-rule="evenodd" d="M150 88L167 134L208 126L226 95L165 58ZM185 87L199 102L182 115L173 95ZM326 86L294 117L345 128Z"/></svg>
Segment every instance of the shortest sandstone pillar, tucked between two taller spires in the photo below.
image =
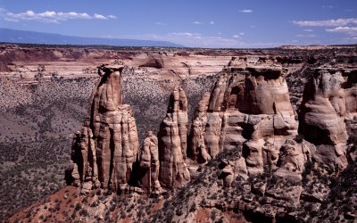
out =
<svg viewBox="0 0 357 223"><path fill-rule="evenodd" d="M147 132L144 144L140 150L140 169L142 178L140 186L147 191L147 194L162 192L159 182L159 147L157 137L152 131Z"/></svg>

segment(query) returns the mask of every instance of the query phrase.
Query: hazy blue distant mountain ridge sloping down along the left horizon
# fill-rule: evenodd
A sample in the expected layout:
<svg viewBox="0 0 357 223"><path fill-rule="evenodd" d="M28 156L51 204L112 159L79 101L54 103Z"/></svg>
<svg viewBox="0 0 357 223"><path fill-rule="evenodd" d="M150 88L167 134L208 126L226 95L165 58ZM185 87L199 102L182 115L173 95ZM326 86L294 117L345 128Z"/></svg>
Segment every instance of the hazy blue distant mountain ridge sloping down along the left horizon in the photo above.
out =
<svg viewBox="0 0 357 223"><path fill-rule="evenodd" d="M60 34L24 31L0 28L0 42L17 44L46 45L115 45L115 46L168 46L185 47L168 41L103 38L103 37L71 37Z"/></svg>

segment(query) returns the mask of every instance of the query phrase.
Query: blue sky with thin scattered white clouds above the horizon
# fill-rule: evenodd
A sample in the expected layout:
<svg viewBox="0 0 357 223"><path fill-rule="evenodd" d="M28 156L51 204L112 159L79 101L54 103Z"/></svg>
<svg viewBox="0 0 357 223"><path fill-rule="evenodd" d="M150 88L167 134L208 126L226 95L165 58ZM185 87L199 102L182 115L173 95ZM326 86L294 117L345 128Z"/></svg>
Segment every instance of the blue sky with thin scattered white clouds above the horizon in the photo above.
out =
<svg viewBox="0 0 357 223"><path fill-rule="evenodd" d="M357 0L0 0L0 27L191 47L357 44Z"/></svg>

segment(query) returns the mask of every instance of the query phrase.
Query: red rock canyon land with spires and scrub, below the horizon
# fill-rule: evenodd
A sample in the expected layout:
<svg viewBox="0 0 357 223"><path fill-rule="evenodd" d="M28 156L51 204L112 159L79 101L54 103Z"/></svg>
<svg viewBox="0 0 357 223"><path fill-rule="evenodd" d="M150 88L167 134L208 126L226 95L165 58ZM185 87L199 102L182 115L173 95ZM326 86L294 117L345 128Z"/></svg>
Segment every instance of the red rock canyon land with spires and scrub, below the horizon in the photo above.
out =
<svg viewBox="0 0 357 223"><path fill-rule="evenodd" d="M68 167L69 186L57 183L62 189L38 202L34 196L10 221L355 219L353 45L3 45L1 57L2 153L31 145L24 155L2 158L2 181L17 162L27 162L35 143L56 139L67 146L53 148L67 153L54 159L63 171ZM66 101L63 110L59 102ZM32 117L38 124L24 121L44 107L51 117L38 113ZM63 122L72 128L57 129ZM19 126L20 145L9 135Z"/></svg>

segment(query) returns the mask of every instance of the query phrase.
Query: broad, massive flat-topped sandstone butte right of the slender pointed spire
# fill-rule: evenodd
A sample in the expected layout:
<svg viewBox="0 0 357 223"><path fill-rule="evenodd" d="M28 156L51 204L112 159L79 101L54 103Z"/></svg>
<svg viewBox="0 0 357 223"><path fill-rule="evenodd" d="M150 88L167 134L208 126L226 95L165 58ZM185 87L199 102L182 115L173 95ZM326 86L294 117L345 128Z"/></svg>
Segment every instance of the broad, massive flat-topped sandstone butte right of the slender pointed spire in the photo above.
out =
<svg viewBox="0 0 357 223"><path fill-rule="evenodd" d="M233 58L225 71L210 99L204 95L197 108L190 158L214 157L245 143L243 156L250 173L276 166L279 148L297 129L286 70L268 59L247 64L246 59Z"/></svg>

